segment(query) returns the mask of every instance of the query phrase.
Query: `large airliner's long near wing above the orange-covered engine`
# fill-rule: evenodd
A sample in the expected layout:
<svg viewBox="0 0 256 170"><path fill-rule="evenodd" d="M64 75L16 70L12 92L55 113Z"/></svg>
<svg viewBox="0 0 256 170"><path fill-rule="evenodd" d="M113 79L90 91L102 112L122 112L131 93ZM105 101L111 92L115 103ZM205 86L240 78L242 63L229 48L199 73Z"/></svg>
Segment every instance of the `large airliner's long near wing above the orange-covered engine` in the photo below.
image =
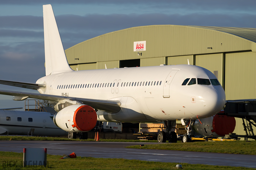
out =
<svg viewBox="0 0 256 170"><path fill-rule="evenodd" d="M42 100L50 100L50 101L73 99L73 100L81 101L83 104L87 104L94 109L102 110L108 113L117 113L121 109L120 101L116 101L116 100L86 99L86 98L77 98L77 97L65 97L65 96L20 92L20 91L10 91L10 90L0 90L0 94L9 95L9 96L29 97L34 99L42 99Z"/></svg>

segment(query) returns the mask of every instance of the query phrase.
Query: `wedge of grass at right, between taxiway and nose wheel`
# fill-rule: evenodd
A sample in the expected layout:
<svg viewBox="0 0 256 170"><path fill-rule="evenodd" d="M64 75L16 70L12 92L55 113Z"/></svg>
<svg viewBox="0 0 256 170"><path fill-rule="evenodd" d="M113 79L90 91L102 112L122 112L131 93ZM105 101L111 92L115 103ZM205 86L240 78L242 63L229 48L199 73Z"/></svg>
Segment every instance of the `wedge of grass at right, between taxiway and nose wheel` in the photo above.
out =
<svg viewBox="0 0 256 170"><path fill-rule="evenodd" d="M256 155L256 141L216 141L216 142L187 142L187 143L165 143L155 145L128 146L126 148L136 149L161 149L195 152L233 153Z"/></svg>

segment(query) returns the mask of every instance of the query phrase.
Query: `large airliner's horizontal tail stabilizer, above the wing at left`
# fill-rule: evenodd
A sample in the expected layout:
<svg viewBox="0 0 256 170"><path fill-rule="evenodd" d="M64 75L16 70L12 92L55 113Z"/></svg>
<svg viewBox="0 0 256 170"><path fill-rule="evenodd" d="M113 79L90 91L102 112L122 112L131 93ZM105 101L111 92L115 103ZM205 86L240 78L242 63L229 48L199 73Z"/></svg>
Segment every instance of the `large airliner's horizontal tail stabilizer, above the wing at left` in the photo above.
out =
<svg viewBox="0 0 256 170"><path fill-rule="evenodd" d="M8 86L15 86L15 87L22 87L37 90L39 88L45 88L46 85L44 84L36 84L36 83L24 83L24 82L14 82L14 81L7 81L7 80L0 80L0 84L8 85Z"/></svg>

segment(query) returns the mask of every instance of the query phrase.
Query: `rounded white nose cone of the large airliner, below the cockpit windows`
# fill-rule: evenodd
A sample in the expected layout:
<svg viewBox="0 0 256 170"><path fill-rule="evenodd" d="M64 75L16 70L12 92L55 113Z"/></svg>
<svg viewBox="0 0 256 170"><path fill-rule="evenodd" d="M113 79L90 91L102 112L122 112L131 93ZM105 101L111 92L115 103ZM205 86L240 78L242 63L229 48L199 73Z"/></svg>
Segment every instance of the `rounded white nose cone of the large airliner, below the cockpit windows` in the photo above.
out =
<svg viewBox="0 0 256 170"><path fill-rule="evenodd" d="M202 94L203 108L208 110L208 113L217 114L223 109L226 102L225 91L222 87L215 89L207 89Z"/></svg>

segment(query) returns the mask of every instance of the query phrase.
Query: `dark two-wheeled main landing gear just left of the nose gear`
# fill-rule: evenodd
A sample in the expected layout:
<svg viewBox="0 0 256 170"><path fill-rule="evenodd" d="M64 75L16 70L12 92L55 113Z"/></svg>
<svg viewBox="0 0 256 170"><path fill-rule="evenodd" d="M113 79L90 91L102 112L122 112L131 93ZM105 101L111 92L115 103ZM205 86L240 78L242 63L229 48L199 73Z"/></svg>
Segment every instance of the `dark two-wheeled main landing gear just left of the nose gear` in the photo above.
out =
<svg viewBox="0 0 256 170"><path fill-rule="evenodd" d="M174 131L171 131L172 127L175 126L176 121L165 121L166 133L161 131L157 135L157 141L161 143L165 143L166 140L169 143L177 143L177 134Z"/></svg>

